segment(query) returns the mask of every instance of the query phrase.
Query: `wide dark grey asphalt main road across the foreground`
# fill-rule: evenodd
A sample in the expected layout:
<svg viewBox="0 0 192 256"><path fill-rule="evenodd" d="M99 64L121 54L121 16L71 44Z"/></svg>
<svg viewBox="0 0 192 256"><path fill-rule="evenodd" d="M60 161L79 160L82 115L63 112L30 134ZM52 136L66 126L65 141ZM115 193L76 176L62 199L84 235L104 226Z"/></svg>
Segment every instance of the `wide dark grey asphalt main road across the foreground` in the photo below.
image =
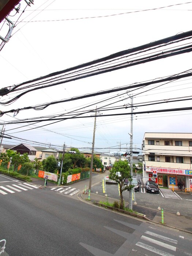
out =
<svg viewBox="0 0 192 256"><path fill-rule="evenodd" d="M192 255L191 234L81 202L75 195L30 187L0 174L0 190L5 192L5 187L19 190L0 193L0 239L6 239L5 251L10 256L153 256L154 251Z"/></svg>

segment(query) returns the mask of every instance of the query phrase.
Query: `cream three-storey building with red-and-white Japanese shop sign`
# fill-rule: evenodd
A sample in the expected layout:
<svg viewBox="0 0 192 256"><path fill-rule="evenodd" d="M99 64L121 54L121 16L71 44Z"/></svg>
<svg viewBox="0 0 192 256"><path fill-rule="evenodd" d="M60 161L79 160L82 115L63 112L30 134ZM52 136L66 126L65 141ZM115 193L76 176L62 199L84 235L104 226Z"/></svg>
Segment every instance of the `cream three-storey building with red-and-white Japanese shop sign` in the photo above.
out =
<svg viewBox="0 0 192 256"><path fill-rule="evenodd" d="M192 133L146 132L142 150L145 181L177 189L181 180L192 190Z"/></svg>

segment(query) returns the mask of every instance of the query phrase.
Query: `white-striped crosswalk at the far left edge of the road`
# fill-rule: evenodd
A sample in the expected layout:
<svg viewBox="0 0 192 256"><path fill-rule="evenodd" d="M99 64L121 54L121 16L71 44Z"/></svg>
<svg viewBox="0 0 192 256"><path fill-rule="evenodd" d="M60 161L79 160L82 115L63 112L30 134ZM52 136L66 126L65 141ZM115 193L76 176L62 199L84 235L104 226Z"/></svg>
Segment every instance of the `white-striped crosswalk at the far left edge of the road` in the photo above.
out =
<svg viewBox="0 0 192 256"><path fill-rule="evenodd" d="M28 184L28 183L5 185L5 186L0 186L0 194L7 195L8 193L12 194L15 192L27 191L27 190L35 189L35 188L38 188L38 187Z"/></svg>

